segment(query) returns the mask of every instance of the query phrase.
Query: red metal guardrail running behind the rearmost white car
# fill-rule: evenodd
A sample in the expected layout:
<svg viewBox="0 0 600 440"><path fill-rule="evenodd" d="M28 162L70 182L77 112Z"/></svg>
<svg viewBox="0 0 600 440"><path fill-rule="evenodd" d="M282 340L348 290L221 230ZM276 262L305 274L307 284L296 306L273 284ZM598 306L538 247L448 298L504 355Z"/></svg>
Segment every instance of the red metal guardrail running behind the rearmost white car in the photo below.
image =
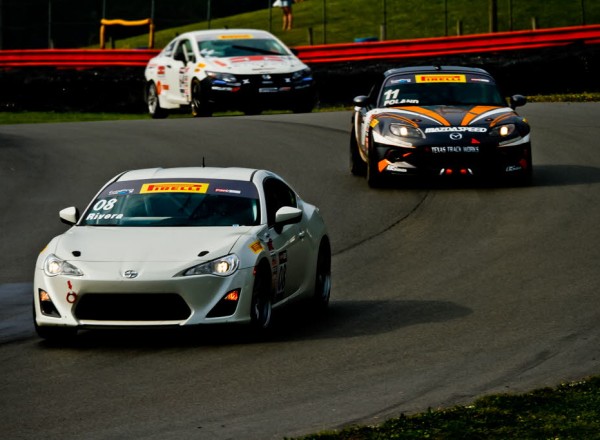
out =
<svg viewBox="0 0 600 440"><path fill-rule="evenodd" d="M600 25L456 37L299 46L309 64L539 49L569 44L600 44ZM0 68L49 66L86 69L145 66L156 49L30 49L0 51Z"/></svg>

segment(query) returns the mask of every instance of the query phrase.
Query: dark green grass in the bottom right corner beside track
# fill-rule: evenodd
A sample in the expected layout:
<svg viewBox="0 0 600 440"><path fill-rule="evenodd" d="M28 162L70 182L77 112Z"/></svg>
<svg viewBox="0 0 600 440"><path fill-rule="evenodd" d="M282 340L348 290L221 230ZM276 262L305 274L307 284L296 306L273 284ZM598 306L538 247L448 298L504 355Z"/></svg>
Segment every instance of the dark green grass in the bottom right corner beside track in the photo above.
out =
<svg viewBox="0 0 600 440"><path fill-rule="evenodd" d="M402 415L302 440L600 439L600 377L526 394L500 394L472 405Z"/></svg>

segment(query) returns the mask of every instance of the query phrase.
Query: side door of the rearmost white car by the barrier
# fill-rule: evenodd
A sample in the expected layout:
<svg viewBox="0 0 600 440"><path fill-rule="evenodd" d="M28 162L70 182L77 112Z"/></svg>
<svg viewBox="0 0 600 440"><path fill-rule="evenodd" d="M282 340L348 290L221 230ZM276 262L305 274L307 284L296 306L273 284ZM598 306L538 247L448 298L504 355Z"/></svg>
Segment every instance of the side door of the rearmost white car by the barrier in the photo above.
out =
<svg viewBox="0 0 600 440"><path fill-rule="evenodd" d="M193 72L195 56L192 42L183 38L177 42L173 56L169 59L165 70L165 84L163 93L174 104L188 104L190 102L190 72Z"/></svg>

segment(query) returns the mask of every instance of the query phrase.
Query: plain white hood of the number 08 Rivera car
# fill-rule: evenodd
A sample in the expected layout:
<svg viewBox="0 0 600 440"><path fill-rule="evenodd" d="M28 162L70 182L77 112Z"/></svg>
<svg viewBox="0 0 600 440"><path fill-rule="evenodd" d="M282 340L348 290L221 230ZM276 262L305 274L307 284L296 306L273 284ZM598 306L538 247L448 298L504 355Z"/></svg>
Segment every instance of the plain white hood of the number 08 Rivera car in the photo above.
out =
<svg viewBox="0 0 600 440"><path fill-rule="evenodd" d="M56 255L79 261L209 261L227 255L249 227L122 228L75 226L56 245ZM201 252L207 252L199 257Z"/></svg>

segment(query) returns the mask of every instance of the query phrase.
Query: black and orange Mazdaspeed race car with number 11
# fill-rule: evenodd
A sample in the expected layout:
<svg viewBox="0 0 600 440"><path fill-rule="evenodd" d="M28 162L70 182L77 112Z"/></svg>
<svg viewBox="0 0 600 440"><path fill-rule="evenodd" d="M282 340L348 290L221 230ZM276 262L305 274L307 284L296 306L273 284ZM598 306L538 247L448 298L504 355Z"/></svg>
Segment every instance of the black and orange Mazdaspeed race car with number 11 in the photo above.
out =
<svg viewBox="0 0 600 440"><path fill-rule="evenodd" d="M370 186L387 176L532 176L530 128L494 78L478 68L388 70L369 96L354 98L350 170Z"/></svg>

